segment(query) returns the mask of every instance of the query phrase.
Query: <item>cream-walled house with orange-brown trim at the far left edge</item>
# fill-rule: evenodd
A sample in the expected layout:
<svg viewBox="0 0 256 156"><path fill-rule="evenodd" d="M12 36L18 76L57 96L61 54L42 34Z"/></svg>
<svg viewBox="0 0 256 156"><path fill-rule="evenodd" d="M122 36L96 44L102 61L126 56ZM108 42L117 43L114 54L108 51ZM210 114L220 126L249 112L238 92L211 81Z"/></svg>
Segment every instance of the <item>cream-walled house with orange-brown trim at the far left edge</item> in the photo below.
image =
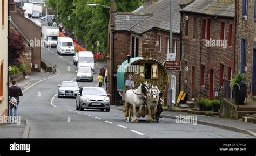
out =
<svg viewBox="0 0 256 156"><path fill-rule="evenodd" d="M8 103L8 1L1 1L2 2L0 3L0 116L6 116Z"/></svg>

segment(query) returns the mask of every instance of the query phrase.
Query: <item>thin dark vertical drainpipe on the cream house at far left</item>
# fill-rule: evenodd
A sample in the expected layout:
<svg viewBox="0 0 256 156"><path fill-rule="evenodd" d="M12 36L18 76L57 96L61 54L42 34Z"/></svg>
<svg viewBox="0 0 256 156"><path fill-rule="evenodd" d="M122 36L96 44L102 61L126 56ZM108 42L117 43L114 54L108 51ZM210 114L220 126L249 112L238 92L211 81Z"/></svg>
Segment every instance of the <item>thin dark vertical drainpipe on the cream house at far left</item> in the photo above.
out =
<svg viewBox="0 0 256 156"><path fill-rule="evenodd" d="M6 87L7 87L7 114L8 116L10 116L10 104L9 104L9 95L10 95L10 87L9 87L9 84L10 84L10 79L9 79L9 66L10 66L10 57L9 57L9 53L10 53L10 20L9 20L9 17L10 17L10 0L8 0L8 46L7 46L7 51L8 51L8 54L7 54L7 84L6 84Z"/></svg>

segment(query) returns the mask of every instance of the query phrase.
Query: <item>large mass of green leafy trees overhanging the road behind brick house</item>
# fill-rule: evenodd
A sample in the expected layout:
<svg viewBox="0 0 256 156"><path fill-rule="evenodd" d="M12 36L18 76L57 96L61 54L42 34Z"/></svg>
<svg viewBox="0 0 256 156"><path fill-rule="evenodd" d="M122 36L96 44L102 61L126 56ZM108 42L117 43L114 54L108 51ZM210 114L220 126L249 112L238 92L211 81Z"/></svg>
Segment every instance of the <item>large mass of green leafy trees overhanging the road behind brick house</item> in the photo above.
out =
<svg viewBox="0 0 256 156"><path fill-rule="evenodd" d="M111 5L110 0L46 0L46 5L58 15L57 22L62 22L66 29L74 31L87 50L103 51L106 54L109 9L87 6L90 3ZM116 0L117 12L132 12L140 5L141 0Z"/></svg>

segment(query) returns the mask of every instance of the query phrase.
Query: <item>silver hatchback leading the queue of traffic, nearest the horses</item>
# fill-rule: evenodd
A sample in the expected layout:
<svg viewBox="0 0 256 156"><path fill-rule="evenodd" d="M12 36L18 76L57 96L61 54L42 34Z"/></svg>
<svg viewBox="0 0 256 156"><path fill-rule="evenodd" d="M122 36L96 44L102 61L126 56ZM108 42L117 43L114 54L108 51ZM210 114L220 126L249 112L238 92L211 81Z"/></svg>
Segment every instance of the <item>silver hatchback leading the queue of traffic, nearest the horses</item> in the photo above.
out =
<svg viewBox="0 0 256 156"><path fill-rule="evenodd" d="M100 109L110 111L110 94L101 87L83 87L76 98L76 110Z"/></svg>

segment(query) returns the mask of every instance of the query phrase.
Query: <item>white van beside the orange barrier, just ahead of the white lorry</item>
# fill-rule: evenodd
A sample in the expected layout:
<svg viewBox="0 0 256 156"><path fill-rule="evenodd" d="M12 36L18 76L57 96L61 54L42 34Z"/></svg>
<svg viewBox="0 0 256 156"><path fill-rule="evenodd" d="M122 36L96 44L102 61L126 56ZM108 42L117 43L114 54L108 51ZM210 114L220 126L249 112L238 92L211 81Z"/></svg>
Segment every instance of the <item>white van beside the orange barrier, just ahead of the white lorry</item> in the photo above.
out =
<svg viewBox="0 0 256 156"><path fill-rule="evenodd" d="M57 53L72 54L75 55L75 47L72 38L69 37L58 37L57 41Z"/></svg>

